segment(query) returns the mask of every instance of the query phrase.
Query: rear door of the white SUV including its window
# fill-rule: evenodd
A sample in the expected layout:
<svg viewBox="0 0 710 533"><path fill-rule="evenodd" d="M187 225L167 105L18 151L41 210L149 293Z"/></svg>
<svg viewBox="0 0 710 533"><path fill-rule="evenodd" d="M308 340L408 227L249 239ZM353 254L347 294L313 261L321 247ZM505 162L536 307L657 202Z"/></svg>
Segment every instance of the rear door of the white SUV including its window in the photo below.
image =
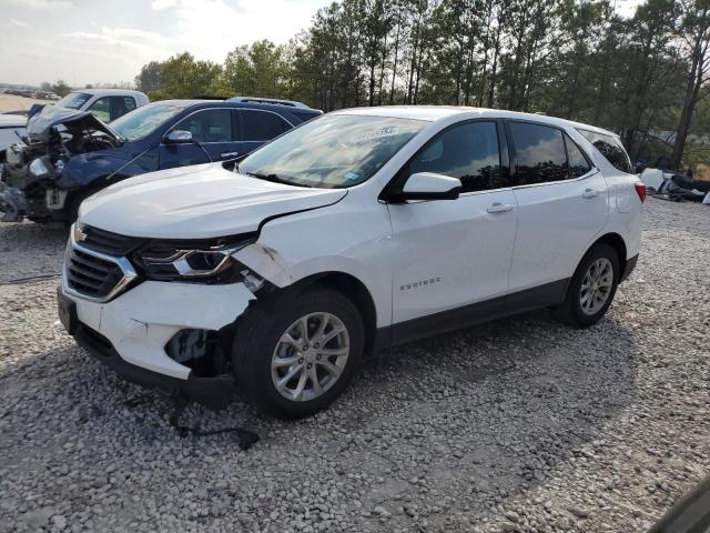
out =
<svg viewBox="0 0 710 533"><path fill-rule="evenodd" d="M561 129L507 121L518 231L510 291L570 278L609 213L601 172ZM549 286L555 300L565 283Z"/></svg>

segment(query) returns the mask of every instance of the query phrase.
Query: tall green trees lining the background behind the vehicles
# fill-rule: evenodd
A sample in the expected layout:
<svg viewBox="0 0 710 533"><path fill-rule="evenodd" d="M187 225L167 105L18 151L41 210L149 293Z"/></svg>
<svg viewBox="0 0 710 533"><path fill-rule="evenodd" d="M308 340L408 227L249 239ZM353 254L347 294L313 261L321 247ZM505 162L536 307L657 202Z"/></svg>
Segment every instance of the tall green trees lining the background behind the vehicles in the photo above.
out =
<svg viewBox="0 0 710 533"><path fill-rule="evenodd" d="M710 0L646 0L630 19L610 0L339 0L285 46L237 47L223 67L185 52L146 64L136 84L160 66L156 98L544 111L606 127L632 158L655 158L672 149L659 132L690 131L710 92L693 70L710 69L709 27Z"/></svg>

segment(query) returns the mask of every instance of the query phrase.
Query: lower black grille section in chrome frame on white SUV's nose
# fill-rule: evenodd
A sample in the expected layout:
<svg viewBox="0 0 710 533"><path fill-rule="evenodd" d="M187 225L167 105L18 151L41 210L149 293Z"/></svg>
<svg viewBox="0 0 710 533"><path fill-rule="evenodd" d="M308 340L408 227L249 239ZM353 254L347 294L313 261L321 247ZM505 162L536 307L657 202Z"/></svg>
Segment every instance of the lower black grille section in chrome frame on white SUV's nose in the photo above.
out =
<svg viewBox="0 0 710 533"><path fill-rule="evenodd" d="M116 263L75 248L67 259L67 284L85 296L104 299L124 278Z"/></svg>

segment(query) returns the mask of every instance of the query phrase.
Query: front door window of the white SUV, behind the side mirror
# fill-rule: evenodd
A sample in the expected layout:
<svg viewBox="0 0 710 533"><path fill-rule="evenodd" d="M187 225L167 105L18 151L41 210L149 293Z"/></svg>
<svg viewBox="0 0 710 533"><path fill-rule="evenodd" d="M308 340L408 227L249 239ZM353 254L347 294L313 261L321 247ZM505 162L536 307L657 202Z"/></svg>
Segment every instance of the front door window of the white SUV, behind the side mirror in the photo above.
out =
<svg viewBox="0 0 710 533"><path fill-rule="evenodd" d="M408 174L416 172L458 178L462 192L509 185L501 172L495 122L469 122L446 130L409 162Z"/></svg>

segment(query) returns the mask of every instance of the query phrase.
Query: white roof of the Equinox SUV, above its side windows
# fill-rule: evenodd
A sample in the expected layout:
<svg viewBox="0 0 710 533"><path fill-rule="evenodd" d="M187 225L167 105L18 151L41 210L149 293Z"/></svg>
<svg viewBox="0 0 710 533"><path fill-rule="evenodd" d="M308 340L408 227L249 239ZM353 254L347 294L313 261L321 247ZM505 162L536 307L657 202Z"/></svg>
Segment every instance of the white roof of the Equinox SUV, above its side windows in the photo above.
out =
<svg viewBox="0 0 710 533"><path fill-rule="evenodd" d="M453 115L466 118L498 118L498 119L526 119L536 122L548 123L559 127L584 128L586 130L598 131L609 135L616 133L597 128L596 125L574 122L571 120L548 117L546 114L521 113L518 111L506 111L503 109L469 108L465 105L379 105L375 108L351 108L334 111L337 114L362 114L371 117L390 117L393 119L415 119L434 122Z"/></svg>

